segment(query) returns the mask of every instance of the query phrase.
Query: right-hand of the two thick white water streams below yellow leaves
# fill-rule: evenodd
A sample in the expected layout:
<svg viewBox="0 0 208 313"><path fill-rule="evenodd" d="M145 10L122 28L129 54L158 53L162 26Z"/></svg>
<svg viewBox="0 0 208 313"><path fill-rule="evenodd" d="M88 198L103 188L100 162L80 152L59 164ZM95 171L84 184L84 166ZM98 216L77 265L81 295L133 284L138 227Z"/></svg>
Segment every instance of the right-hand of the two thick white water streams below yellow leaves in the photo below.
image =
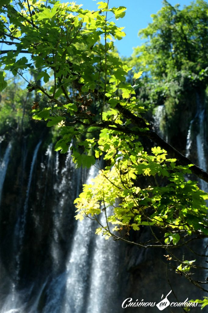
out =
<svg viewBox="0 0 208 313"><path fill-rule="evenodd" d="M109 214L110 215L110 214ZM102 212L101 224L106 224ZM86 313L115 312L119 307L116 277L119 275L119 243L97 236L92 259L91 283ZM115 307L114 307L115 305Z"/></svg>

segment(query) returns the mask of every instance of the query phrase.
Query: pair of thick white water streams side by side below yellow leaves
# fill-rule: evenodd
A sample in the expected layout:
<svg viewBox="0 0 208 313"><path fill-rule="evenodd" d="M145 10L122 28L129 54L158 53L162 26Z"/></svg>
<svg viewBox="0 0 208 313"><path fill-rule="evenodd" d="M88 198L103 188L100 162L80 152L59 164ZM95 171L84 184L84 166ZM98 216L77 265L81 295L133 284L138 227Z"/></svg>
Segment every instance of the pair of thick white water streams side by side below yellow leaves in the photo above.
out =
<svg viewBox="0 0 208 313"><path fill-rule="evenodd" d="M97 171L95 166L91 167L87 183L96 176ZM76 174L80 177L80 170ZM112 301L112 297L115 297L116 288L113 286L116 284L116 275L113 280L111 277L116 272L119 254L116 253L116 243L95 236L96 226L90 219L77 221L65 272L50 284L44 313L98 313L113 310L107 299ZM106 299L103 297L104 292Z"/></svg>

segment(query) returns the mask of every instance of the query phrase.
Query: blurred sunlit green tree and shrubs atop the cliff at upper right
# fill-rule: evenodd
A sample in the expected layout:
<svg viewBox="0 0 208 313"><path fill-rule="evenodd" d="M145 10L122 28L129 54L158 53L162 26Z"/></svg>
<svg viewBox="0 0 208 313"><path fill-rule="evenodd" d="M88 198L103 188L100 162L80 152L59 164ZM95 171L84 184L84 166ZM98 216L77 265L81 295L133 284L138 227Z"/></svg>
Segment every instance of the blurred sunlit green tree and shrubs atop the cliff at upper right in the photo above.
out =
<svg viewBox="0 0 208 313"><path fill-rule="evenodd" d="M152 23L139 31L145 43L134 49L131 63L145 71L149 104L173 97L176 104L184 91L206 89L208 83L208 4L196 0L183 9L166 0ZM184 99L185 101L185 99ZM171 108L173 109L173 108Z"/></svg>

